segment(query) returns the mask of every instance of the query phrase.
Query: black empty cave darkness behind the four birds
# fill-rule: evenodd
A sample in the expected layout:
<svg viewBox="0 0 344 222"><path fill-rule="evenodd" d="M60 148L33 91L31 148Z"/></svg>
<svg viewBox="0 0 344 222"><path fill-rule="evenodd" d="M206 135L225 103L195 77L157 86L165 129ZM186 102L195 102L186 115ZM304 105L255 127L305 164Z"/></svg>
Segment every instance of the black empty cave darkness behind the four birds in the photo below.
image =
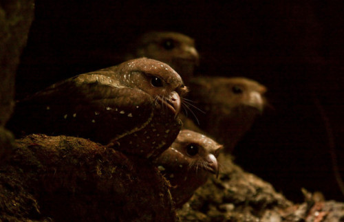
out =
<svg viewBox="0 0 344 222"><path fill-rule="evenodd" d="M198 74L246 76L269 89L274 109L239 143L235 162L294 201L301 187L344 201L331 157L343 171L343 11L343 1L37 0L17 98L120 63L143 32L182 32L195 38Z"/></svg>

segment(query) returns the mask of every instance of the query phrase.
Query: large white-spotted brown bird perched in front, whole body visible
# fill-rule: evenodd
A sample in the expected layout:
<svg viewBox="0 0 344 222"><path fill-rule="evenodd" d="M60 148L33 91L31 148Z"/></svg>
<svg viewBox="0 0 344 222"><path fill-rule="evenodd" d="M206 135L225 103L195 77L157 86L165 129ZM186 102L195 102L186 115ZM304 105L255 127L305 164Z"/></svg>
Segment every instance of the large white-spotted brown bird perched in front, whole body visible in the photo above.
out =
<svg viewBox="0 0 344 222"><path fill-rule="evenodd" d="M180 130L182 78L169 65L139 58L58 82L19 102L10 128L73 135L156 157Z"/></svg>

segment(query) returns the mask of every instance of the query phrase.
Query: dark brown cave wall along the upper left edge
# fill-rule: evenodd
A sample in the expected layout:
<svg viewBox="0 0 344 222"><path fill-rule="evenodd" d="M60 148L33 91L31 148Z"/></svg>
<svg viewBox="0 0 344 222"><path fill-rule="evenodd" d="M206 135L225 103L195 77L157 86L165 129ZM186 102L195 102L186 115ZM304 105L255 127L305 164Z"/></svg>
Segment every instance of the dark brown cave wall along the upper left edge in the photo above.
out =
<svg viewBox="0 0 344 222"><path fill-rule="evenodd" d="M0 1L0 160L14 139L4 126L14 107L15 74L33 19L34 1Z"/></svg>

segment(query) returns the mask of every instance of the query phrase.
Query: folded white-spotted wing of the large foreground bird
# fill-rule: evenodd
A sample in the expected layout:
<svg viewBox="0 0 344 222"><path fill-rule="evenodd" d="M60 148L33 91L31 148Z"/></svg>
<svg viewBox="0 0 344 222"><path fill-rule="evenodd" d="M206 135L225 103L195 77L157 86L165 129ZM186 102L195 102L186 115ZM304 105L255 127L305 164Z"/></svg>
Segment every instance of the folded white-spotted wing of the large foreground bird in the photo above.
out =
<svg viewBox="0 0 344 222"><path fill-rule="evenodd" d="M73 135L107 144L145 124L153 104L144 91L123 86L109 71L96 71L19 102L11 122L17 132Z"/></svg>

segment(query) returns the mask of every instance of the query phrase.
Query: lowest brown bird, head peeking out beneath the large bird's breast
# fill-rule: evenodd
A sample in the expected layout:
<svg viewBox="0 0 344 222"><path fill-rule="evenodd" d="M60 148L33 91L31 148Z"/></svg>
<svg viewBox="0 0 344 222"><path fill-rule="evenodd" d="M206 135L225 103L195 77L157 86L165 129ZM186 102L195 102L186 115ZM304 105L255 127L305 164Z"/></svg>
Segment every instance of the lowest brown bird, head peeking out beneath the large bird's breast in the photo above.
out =
<svg viewBox="0 0 344 222"><path fill-rule="evenodd" d="M180 131L177 139L155 165L171 182L171 195L181 207L211 174L218 174L217 156L222 145L200 133Z"/></svg>

